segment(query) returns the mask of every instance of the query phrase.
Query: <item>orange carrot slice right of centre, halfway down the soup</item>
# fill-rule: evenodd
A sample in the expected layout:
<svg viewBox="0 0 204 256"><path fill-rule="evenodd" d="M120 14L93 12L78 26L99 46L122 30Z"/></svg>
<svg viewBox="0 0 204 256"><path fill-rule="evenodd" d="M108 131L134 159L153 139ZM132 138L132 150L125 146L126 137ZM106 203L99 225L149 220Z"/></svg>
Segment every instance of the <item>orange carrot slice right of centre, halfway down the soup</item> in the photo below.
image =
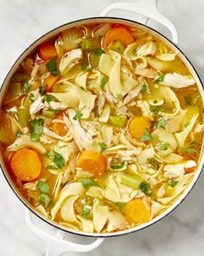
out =
<svg viewBox="0 0 204 256"><path fill-rule="evenodd" d="M132 137L140 139L144 135L145 129L150 128L150 126L150 119L143 116L134 116L129 122L129 132Z"/></svg>

